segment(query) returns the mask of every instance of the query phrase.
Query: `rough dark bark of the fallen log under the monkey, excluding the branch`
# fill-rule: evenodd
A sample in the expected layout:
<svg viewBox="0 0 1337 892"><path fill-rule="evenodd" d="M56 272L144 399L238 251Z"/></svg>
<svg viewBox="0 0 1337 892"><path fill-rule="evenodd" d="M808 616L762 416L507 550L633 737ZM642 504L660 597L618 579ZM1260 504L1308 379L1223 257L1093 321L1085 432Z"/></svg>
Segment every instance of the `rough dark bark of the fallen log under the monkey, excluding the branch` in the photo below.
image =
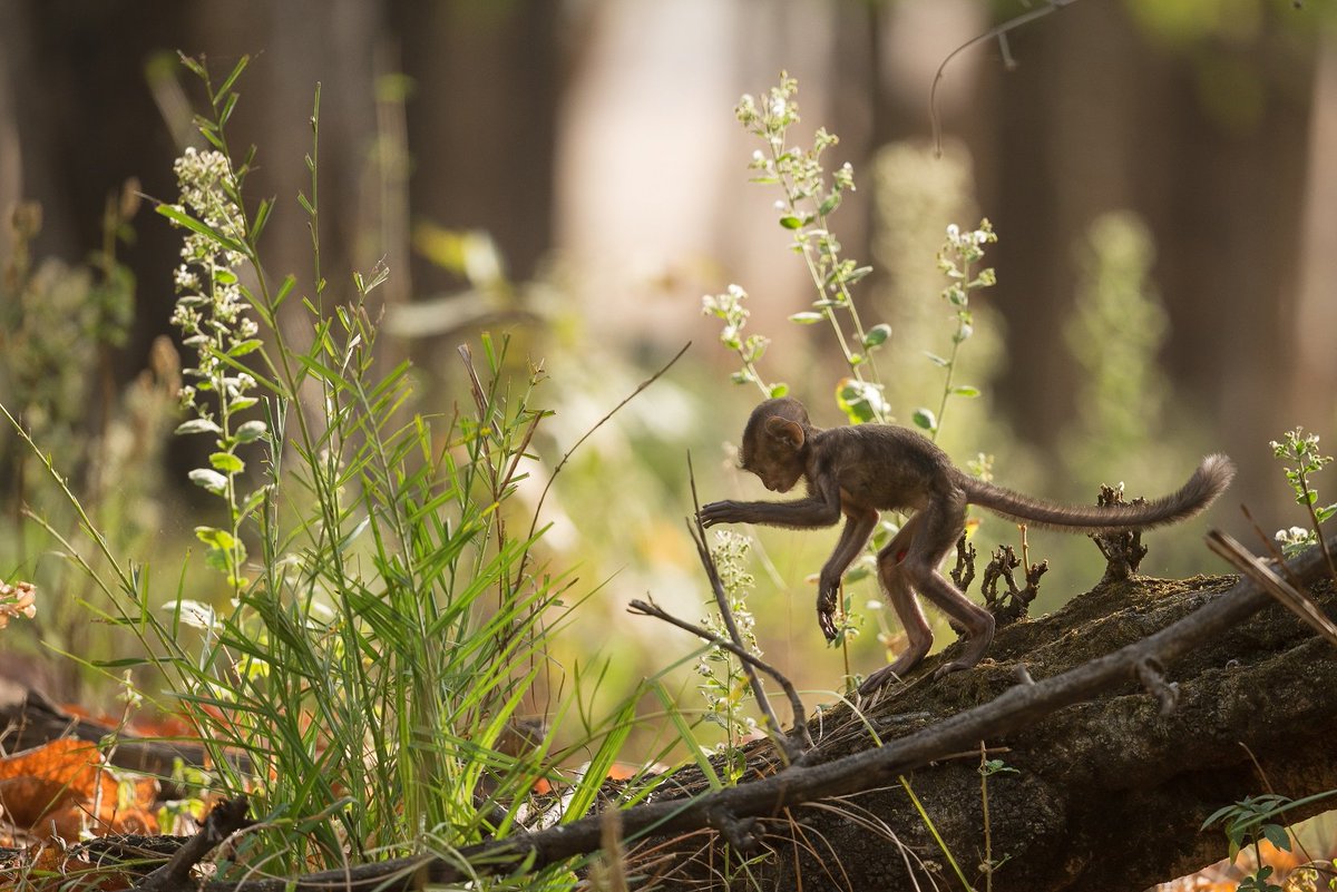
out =
<svg viewBox="0 0 1337 892"><path fill-rule="evenodd" d="M820 761L876 746L872 732L882 741L905 737L988 702L1019 684L1023 668L1042 681L1139 641L1233 584L1195 577L1098 586L1054 614L1000 630L992 660L972 672L933 681L936 662L927 665L866 710L869 725L844 709L814 720ZM1332 584L1313 594L1332 613ZM983 741L989 758L1016 769L988 778L991 856L1007 859L995 892L1142 889L1225 856L1219 828L1198 829L1217 808L1269 791L1298 799L1337 787L1337 650L1281 606L1174 661L1166 680L1178 688L1169 714L1130 677L1098 700ZM761 760L757 768L769 770ZM967 879L983 888L979 768L980 753L963 752L905 780ZM809 803L763 824L771 855L745 872L761 888L923 889L933 888L929 873L937 888L960 888L900 785ZM658 849L654 861L673 864L664 889L697 888L710 875L718 881L726 869L718 837L701 835L671 853Z"/></svg>

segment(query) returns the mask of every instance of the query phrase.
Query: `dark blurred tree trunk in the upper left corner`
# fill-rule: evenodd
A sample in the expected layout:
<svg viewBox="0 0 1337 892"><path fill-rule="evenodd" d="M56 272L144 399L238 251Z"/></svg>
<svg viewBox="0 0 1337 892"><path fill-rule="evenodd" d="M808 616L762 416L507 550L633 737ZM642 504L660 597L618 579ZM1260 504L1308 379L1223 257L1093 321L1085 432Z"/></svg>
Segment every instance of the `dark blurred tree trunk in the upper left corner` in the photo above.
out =
<svg viewBox="0 0 1337 892"><path fill-rule="evenodd" d="M9 248L17 200L41 204L33 256L82 263L102 244L108 195L136 178L148 195L175 194L175 148L144 87L144 64L174 48L183 4L49 0L0 4L0 255ZM135 243L120 256L139 271L167 271L180 236L140 211ZM155 272L158 275L158 272ZM118 374L144 367L152 338L167 328L170 279L140 280L138 324L119 351Z"/></svg>

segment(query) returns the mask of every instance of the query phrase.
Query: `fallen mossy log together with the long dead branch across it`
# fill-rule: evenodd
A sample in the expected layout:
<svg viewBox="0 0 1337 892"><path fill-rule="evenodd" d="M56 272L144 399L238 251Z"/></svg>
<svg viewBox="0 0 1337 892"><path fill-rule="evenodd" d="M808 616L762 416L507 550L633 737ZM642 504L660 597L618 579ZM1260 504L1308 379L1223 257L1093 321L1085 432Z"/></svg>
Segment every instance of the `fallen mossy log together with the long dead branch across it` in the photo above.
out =
<svg viewBox="0 0 1337 892"><path fill-rule="evenodd" d="M1321 554L1290 569L1313 585ZM1330 585L1316 594L1332 609ZM945 859L909 804L905 777L967 877L980 883L981 742L1016 769L988 781L991 852L1007 859L992 880L997 892L1139 889L1213 861L1223 839L1198 831L1210 811L1269 788L1300 797L1337 787L1329 745L1337 650L1269 604L1250 580L1102 585L1055 614L1009 626L992 660L973 670L932 681L928 661L864 718L848 709L816 717L817 749L789 768L765 742L749 758L758 780L622 812L628 869L671 864L659 888L698 888L718 881L721 840L730 837L774 853L750 868L763 888L909 889L912 871L919 888L929 888L924 873L941 872ZM678 781L690 785L686 773ZM467 847L449 861L401 859L206 888L398 889L521 864L533 871L596 851L606 825L592 816ZM652 861L643 855L650 844Z"/></svg>

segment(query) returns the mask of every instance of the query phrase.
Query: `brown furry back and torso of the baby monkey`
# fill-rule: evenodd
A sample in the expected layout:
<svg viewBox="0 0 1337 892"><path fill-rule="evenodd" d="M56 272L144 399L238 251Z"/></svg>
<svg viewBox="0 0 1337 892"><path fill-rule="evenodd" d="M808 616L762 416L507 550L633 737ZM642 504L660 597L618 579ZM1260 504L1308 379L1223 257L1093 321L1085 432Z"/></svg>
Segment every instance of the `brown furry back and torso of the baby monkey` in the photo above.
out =
<svg viewBox="0 0 1337 892"><path fill-rule="evenodd" d="M952 459L933 441L898 425L850 425L818 435L842 497L876 510L913 510L956 489ZM818 469L818 473L826 469Z"/></svg>

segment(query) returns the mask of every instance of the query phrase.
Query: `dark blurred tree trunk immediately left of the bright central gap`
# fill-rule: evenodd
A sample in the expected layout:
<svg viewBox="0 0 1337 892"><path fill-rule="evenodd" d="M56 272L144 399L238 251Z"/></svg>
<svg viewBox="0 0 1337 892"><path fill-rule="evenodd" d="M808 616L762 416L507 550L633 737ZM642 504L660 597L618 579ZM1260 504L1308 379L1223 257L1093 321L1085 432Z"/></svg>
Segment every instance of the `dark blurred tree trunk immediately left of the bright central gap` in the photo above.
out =
<svg viewBox="0 0 1337 892"><path fill-rule="evenodd" d="M402 40L414 218L495 235L511 275L535 274L552 243L560 4L452 0L390 4ZM414 260L414 280L451 279Z"/></svg>

